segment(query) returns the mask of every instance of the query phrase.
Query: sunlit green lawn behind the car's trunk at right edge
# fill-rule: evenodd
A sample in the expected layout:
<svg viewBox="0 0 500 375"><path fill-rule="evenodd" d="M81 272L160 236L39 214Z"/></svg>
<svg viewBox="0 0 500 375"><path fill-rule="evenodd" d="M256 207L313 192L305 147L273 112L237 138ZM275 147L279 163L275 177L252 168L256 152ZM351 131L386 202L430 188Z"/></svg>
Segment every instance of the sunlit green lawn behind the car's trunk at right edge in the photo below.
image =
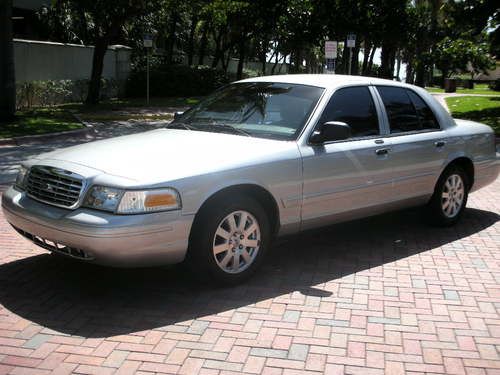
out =
<svg viewBox="0 0 500 375"><path fill-rule="evenodd" d="M500 97L462 96L446 98L453 117L490 125L500 136Z"/></svg>

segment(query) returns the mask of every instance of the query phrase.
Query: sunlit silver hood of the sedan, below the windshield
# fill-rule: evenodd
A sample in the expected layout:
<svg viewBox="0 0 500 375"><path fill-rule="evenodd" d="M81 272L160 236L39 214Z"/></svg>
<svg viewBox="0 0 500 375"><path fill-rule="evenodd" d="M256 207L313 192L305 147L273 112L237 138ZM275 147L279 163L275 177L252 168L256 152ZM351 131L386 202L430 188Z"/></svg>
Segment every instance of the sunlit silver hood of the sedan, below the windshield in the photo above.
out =
<svg viewBox="0 0 500 375"><path fill-rule="evenodd" d="M77 164L101 173L161 183L297 157L295 142L177 129L90 142L38 156L36 164ZM60 162L60 165L58 165Z"/></svg>

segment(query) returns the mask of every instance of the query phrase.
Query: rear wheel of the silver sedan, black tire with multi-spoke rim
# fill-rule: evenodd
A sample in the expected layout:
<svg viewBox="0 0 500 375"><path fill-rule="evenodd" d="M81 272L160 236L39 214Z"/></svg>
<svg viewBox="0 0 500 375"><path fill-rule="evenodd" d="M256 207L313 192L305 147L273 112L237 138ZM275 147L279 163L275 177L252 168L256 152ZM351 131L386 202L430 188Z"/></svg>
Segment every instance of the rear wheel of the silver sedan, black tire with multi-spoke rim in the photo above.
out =
<svg viewBox="0 0 500 375"><path fill-rule="evenodd" d="M469 196L469 180L457 165L445 169L427 205L429 221L437 226L456 224L462 216Z"/></svg>

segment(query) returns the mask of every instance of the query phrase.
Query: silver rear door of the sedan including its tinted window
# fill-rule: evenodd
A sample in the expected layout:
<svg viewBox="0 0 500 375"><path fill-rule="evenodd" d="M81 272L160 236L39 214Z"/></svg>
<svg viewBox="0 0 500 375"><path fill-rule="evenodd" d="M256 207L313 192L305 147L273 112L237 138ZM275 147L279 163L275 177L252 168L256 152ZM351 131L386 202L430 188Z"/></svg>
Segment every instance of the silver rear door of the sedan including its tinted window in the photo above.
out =
<svg viewBox="0 0 500 375"><path fill-rule="evenodd" d="M415 91L396 86L377 91L389 122L395 197L423 202L432 195L446 156L445 134Z"/></svg>

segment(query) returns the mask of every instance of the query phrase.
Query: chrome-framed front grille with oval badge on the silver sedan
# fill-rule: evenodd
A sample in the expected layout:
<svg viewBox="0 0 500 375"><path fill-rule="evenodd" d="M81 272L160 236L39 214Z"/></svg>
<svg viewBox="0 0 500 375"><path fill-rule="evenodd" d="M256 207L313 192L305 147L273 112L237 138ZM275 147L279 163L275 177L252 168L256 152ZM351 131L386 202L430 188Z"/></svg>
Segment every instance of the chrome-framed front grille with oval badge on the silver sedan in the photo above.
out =
<svg viewBox="0 0 500 375"><path fill-rule="evenodd" d="M52 167L34 166L28 173L26 192L39 201L65 208L78 203L83 178L75 173Z"/></svg>

